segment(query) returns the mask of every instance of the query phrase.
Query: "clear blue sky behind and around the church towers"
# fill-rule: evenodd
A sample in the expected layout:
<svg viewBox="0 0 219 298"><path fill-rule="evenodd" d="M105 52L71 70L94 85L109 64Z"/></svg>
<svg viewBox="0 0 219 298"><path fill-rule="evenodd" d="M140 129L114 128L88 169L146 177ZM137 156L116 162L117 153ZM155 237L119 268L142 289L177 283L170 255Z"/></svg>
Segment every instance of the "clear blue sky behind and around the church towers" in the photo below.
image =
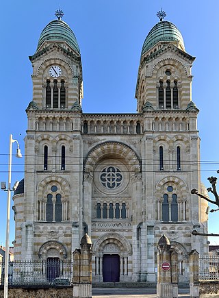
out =
<svg viewBox="0 0 219 298"><path fill-rule="evenodd" d="M24 154L27 116L32 100L31 62L42 29L55 10L77 37L83 66L83 112L136 112L136 79L146 35L166 12L183 35L185 50L196 57L192 74L192 101L200 110L201 177L217 175L218 156L218 0L8 0L1 3L0 47L0 181L8 181L9 136ZM16 153L16 145L13 145ZM24 158L13 156L12 184L23 178ZM219 189L219 188L218 188ZM0 191L0 245L5 245L7 193ZM219 212L209 214L209 232L219 234ZM14 240L11 212L10 245ZM211 244L219 238L211 238Z"/></svg>

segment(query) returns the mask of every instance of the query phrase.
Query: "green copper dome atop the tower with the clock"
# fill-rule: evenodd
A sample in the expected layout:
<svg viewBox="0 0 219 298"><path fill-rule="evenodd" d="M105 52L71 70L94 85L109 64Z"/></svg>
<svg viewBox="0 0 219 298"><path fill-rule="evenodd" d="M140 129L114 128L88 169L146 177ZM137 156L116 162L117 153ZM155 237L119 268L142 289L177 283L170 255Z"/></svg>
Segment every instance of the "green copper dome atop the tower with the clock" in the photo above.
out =
<svg viewBox="0 0 219 298"><path fill-rule="evenodd" d="M40 48L42 43L45 41L62 41L68 42L68 45L75 49L77 53L80 53L79 45L77 44L77 39L72 29L61 20L51 21L40 34L40 39L38 41L37 50Z"/></svg>

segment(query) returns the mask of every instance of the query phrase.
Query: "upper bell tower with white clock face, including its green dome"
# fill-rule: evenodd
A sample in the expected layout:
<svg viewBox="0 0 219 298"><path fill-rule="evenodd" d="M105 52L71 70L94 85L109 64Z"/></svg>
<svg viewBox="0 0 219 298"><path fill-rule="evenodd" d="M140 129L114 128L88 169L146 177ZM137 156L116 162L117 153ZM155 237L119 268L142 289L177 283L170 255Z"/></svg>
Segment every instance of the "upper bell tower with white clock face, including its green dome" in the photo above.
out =
<svg viewBox="0 0 219 298"><path fill-rule="evenodd" d="M40 34L33 66L33 100L40 110L70 110L83 97L81 54L75 34L62 21L51 21Z"/></svg>

